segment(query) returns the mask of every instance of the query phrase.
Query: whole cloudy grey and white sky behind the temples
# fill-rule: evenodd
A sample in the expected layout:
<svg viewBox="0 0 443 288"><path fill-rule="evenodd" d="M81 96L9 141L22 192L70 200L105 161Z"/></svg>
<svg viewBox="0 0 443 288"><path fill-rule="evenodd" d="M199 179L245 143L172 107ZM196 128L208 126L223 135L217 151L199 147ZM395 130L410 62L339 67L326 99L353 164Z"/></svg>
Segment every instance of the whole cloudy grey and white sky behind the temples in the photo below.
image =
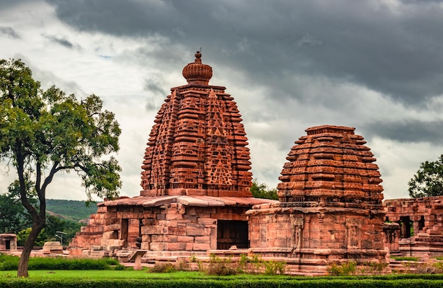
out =
<svg viewBox="0 0 443 288"><path fill-rule="evenodd" d="M243 115L260 183L276 187L306 128L345 125L390 199L443 154L442 27L437 0L0 0L0 59L22 59L44 88L104 100L123 131L122 195L139 195L154 117L202 47L210 83ZM0 191L14 176L0 166ZM70 173L47 197L86 195Z"/></svg>

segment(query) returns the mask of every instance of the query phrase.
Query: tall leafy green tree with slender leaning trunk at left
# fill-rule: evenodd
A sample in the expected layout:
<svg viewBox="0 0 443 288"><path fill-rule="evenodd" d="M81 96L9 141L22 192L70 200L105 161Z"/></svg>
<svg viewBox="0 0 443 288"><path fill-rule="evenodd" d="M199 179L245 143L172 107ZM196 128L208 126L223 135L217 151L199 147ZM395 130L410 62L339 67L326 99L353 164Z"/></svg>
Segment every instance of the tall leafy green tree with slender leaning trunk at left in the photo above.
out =
<svg viewBox="0 0 443 288"><path fill-rule="evenodd" d="M91 195L115 197L121 187L118 151L120 127L114 114L91 95L85 100L67 96L54 86L40 88L21 60L0 60L0 160L16 168L21 204L33 226L18 265L18 277L28 277L28 261L34 242L45 226L46 189L57 173L75 171L88 200ZM33 178L38 205L25 175Z"/></svg>

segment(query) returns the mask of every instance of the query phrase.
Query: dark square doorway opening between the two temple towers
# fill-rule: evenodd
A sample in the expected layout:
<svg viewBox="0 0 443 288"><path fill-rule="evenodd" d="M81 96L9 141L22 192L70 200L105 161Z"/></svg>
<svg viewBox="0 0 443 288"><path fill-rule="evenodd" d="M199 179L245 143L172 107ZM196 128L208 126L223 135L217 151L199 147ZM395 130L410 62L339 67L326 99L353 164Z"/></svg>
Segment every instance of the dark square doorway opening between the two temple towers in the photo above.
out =
<svg viewBox="0 0 443 288"><path fill-rule="evenodd" d="M218 220L217 249L249 248L248 221Z"/></svg>

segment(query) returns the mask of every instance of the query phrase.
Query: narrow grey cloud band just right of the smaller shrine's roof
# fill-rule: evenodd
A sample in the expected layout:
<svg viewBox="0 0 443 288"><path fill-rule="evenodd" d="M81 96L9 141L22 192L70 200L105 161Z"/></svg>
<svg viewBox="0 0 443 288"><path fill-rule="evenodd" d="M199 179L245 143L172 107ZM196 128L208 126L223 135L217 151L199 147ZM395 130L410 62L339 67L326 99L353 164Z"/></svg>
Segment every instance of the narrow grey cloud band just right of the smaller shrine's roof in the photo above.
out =
<svg viewBox="0 0 443 288"><path fill-rule="evenodd" d="M441 144L443 142L443 120L424 122L405 120L393 122L372 122L362 126L368 139L378 136L397 142Z"/></svg>

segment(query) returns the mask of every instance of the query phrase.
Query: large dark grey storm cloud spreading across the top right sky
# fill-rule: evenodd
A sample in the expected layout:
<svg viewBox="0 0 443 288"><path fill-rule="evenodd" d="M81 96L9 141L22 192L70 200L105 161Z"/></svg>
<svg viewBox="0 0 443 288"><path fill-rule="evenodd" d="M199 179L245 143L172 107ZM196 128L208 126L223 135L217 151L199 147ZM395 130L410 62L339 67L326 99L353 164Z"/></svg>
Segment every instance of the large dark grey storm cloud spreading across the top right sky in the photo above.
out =
<svg viewBox="0 0 443 288"><path fill-rule="evenodd" d="M202 46L207 62L243 73L245 85L272 87L276 99L303 100L291 81L298 74L366 86L405 105L443 91L443 10L436 1L395 8L353 0L47 2L78 30Z"/></svg>

